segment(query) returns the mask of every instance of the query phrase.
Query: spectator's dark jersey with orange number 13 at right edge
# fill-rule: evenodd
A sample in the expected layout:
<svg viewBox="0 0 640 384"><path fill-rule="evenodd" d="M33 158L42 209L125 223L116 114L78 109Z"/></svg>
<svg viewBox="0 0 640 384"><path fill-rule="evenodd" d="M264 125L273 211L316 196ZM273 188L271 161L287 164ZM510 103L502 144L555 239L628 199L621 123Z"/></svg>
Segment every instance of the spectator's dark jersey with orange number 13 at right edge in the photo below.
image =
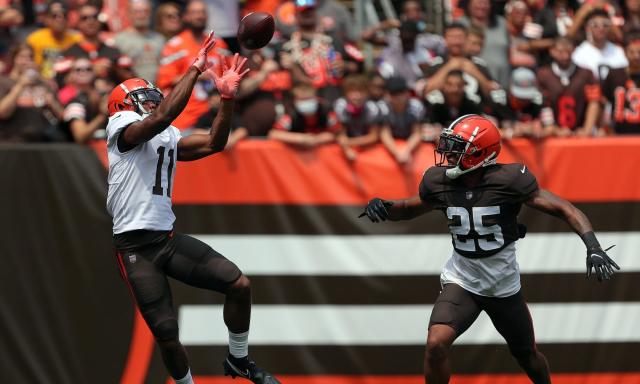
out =
<svg viewBox="0 0 640 384"><path fill-rule="evenodd" d="M611 103L611 124L616 133L640 133L640 76L634 79L626 68L612 69L603 91Z"/></svg>

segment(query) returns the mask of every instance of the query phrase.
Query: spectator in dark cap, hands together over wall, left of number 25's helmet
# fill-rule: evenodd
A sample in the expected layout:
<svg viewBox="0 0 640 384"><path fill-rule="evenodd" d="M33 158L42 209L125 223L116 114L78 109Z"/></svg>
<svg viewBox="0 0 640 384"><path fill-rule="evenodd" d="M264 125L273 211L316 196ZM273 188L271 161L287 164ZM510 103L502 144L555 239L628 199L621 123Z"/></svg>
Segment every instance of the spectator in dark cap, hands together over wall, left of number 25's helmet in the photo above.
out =
<svg viewBox="0 0 640 384"><path fill-rule="evenodd" d="M389 100L386 103L380 140L398 164L411 162L412 154L421 141L421 125L424 121L424 105L411 97L407 81L403 77L391 77L386 82ZM404 140L398 147L396 140Z"/></svg>

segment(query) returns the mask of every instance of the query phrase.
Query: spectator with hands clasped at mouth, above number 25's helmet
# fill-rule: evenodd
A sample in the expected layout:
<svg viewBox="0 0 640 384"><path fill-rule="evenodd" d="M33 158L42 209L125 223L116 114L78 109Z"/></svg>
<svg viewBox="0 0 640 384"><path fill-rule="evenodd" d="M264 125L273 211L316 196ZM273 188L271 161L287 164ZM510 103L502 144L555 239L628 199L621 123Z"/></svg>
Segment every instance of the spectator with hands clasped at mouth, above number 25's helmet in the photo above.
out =
<svg viewBox="0 0 640 384"><path fill-rule="evenodd" d="M441 91L449 72L460 70L464 76L466 98L482 106L506 104L506 92L493 81L484 60L465 54L467 27L460 23L449 24L444 30L447 54L436 57L426 71L426 81L416 84L416 91L425 98L434 91Z"/></svg>

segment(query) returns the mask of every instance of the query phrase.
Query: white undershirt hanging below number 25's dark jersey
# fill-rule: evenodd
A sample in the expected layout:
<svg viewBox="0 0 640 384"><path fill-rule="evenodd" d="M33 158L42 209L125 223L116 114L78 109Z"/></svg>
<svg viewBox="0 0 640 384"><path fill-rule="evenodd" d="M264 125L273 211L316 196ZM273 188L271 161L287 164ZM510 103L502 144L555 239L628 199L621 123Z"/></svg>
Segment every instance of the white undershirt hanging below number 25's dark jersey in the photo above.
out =
<svg viewBox="0 0 640 384"><path fill-rule="evenodd" d="M440 275L442 285L455 283L481 296L508 297L520 290L516 242L491 257L470 259L453 251Z"/></svg>

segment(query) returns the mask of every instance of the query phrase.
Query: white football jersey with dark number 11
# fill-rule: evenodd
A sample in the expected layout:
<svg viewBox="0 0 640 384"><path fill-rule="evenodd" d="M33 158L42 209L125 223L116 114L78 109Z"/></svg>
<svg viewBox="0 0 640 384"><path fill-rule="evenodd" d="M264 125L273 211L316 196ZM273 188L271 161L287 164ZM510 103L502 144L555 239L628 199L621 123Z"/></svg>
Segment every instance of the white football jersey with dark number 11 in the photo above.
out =
<svg viewBox="0 0 640 384"><path fill-rule="evenodd" d="M139 114L124 111L111 116L107 124L107 211L113 217L114 234L136 229L168 231L176 219L171 210L171 193L182 136L170 125L146 143L120 152L120 132L140 120Z"/></svg>

